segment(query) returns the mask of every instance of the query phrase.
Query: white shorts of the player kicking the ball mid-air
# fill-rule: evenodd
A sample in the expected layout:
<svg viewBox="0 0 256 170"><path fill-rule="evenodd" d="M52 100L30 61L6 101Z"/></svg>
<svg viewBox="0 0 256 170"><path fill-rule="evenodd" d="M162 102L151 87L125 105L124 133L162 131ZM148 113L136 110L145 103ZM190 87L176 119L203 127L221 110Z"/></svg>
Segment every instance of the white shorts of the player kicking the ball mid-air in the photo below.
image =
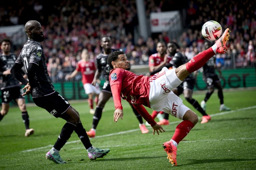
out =
<svg viewBox="0 0 256 170"><path fill-rule="evenodd" d="M182 81L177 77L175 69L164 67L159 73L149 79L149 104L153 110L164 111L182 119L187 110L182 99L172 92Z"/></svg>

